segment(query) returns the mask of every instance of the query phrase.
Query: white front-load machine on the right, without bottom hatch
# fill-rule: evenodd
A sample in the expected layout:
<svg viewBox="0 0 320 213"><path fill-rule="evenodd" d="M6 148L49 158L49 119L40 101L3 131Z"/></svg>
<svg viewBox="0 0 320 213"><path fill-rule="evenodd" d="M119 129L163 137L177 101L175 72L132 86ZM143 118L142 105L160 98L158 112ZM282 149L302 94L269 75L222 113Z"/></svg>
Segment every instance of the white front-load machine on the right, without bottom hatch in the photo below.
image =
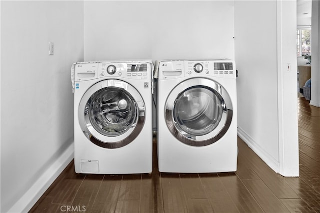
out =
<svg viewBox="0 0 320 213"><path fill-rule="evenodd" d="M159 171L236 171L234 61L168 60L156 67Z"/></svg>

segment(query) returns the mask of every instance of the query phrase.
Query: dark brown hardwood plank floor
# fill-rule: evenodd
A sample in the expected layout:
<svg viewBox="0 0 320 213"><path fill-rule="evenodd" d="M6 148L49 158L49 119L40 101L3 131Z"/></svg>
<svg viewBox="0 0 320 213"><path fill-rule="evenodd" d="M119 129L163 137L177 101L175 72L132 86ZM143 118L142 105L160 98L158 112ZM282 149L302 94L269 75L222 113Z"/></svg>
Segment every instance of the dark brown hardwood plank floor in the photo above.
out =
<svg viewBox="0 0 320 213"><path fill-rule="evenodd" d="M298 98L300 177L275 174L238 138L236 172L75 174L71 162L31 213L320 212L320 108Z"/></svg>

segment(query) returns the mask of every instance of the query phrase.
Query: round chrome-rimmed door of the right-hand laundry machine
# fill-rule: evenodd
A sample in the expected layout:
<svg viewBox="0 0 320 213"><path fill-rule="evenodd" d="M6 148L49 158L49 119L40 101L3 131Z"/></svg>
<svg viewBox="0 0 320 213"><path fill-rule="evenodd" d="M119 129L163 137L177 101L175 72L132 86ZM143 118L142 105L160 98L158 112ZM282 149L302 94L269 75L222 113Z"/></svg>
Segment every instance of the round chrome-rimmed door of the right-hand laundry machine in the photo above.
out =
<svg viewBox="0 0 320 213"><path fill-rule="evenodd" d="M166 124L182 143L206 146L219 140L232 119L232 104L225 89L208 79L178 84L165 105Z"/></svg>

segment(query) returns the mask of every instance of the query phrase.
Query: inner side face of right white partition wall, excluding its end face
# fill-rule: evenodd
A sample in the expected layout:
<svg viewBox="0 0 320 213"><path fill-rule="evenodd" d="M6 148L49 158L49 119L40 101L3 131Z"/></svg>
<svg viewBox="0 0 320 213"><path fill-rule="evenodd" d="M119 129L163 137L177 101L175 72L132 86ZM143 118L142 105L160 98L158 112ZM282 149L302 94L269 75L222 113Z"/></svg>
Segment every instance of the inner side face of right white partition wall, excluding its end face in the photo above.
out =
<svg viewBox="0 0 320 213"><path fill-rule="evenodd" d="M234 1L238 135L278 171L276 17L275 0Z"/></svg>

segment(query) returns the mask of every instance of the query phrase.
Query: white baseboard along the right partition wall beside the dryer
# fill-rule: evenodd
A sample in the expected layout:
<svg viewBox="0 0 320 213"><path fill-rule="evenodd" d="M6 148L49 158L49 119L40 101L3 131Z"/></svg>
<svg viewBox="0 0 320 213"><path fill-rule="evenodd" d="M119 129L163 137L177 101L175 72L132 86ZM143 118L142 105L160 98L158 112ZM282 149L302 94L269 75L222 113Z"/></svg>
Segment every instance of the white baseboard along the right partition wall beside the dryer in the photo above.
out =
<svg viewBox="0 0 320 213"><path fill-rule="evenodd" d="M261 147L240 127L237 129L238 136L257 154L274 172L279 173L279 162L266 153Z"/></svg>

